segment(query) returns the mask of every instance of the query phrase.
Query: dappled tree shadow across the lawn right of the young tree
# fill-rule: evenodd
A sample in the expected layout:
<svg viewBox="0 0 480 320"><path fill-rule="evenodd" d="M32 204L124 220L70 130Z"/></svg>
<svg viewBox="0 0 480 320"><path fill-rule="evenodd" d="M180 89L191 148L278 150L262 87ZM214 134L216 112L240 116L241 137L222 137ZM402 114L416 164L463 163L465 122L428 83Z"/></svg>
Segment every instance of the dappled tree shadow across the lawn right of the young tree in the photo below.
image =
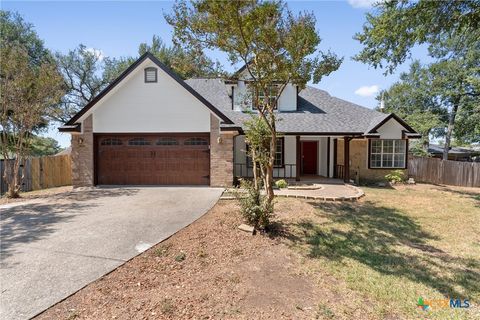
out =
<svg viewBox="0 0 480 320"><path fill-rule="evenodd" d="M437 238L402 212L369 201L311 205L323 222L303 220L283 226L279 234L307 245L311 258L339 262L350 258L400 281L423 283L446 297L478 295L479 261L453 257L428 245L427 240Z"/></svg>

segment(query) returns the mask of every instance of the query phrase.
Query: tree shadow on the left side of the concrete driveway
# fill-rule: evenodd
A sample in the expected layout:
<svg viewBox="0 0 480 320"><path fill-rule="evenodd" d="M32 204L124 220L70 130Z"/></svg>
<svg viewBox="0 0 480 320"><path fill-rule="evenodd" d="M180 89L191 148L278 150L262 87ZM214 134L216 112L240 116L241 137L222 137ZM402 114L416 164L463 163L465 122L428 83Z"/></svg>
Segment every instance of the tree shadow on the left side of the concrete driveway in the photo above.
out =
<svg viewBox="0 0 480 320"><path fill-rule="evenodd" d="M8 258L17 250L21 251L21 247L17 247L17 245L32 243L48 237L57 231L59 223L70 221L98 206L96 199L132 195L137 192L137 189L72 191L51 196L48 201L19 204L1 209L1 267L5 268L11 265ZM60 202L60 200L62 201Z"/></svg>

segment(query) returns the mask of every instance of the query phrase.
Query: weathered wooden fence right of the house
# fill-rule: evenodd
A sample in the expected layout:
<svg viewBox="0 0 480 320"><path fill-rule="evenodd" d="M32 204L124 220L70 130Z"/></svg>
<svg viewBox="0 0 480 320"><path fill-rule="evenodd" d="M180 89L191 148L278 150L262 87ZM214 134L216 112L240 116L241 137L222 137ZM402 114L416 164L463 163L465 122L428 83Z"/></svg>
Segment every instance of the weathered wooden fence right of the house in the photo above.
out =
<svg viewBox="0 0 480 320"><path fill-rule="evenodd" d="M420 182L480 187L480 163L411 157L408 176Z"/></svg>

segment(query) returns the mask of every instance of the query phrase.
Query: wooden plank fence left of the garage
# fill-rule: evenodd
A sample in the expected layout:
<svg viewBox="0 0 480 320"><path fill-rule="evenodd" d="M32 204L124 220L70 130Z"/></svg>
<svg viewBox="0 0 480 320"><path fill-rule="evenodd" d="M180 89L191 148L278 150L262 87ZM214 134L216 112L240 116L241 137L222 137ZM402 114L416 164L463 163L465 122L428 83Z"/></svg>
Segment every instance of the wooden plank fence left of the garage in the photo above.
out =
<svg viewBox="0 0 480 320"><path fill-rule="evenodd" d="M3 179L5 165L5 160L0 161L0 194L7 191L7 184ZM22 174L24 175L22 191L71 185L70 155L29 158L20 168L20 176Z"/></svg>

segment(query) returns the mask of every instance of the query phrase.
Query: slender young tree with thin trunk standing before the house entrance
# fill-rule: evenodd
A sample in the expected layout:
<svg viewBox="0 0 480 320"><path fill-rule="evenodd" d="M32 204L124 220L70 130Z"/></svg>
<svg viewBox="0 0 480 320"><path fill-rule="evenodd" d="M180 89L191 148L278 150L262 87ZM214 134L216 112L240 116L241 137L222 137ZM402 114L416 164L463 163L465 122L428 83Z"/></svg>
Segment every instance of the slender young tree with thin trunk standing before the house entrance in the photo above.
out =
<svg viewBox="0 0 480 320"><path fill-rule="evenodd" d="M338 69L341 59L330 52L316 54L321 39L315 17L311 13L295 16L282 1L178 1L166 20L174 28L176 44L198 51L219 50L232 64L245 65L253 105L270 136L262 178L271 203L278 97L289 83L304 87L310 80L319 82ZM259 99L262 92L272 92L276 98L265 94L265 99Z"/></svg>

